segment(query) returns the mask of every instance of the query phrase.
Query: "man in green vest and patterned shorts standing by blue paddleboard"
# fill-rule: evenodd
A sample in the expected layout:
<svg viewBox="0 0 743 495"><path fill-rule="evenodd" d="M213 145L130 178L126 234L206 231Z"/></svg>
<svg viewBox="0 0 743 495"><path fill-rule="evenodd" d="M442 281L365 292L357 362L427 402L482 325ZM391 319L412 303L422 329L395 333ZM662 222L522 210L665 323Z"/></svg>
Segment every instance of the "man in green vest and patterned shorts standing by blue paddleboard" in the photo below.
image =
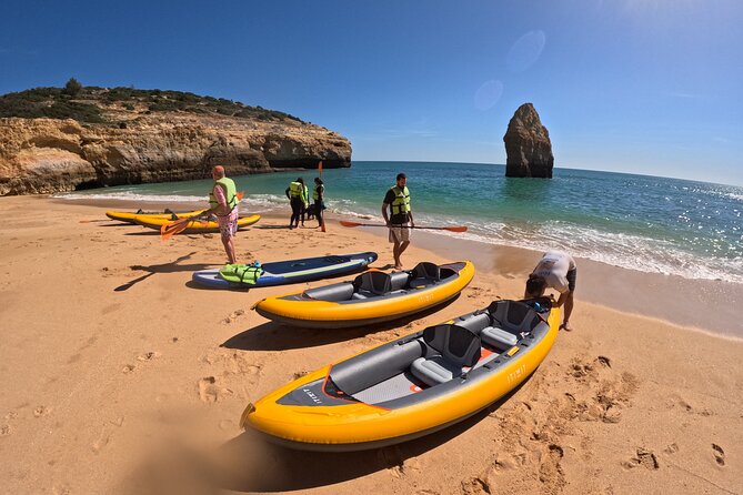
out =
<svg viewBox="0 0 743 495"><path fill-rule="evenodd" d="M230 263L237 263L234 236L238 233L238 191L234 181L224 175L224 168L217 165L211 171L214 185L209 193L209 210L199 216L215 215L222 245Z"/></svg>

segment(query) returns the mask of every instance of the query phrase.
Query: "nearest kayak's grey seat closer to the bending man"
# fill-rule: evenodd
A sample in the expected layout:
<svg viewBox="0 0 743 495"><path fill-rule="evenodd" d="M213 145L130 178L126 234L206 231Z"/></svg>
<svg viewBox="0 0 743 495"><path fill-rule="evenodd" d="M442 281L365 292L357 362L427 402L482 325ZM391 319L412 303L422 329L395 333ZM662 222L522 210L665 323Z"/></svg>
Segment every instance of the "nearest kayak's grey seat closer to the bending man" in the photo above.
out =
<svg viewBox="0 0 743 495"><path fill-rule="evenodd" d="M518 301L496 301L488 307L492 326L483 329L480 339L488 345L505 351L540 323L536 312Z"/></svg>

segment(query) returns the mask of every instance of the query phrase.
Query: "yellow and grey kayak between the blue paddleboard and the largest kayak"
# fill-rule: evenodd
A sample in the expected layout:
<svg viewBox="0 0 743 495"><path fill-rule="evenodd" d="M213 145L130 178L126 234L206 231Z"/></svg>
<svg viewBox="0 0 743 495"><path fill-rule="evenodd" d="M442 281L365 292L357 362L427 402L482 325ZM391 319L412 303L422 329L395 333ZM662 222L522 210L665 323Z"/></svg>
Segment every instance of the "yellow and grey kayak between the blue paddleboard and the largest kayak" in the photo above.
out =
<svg viewBox="0 0 743 495"><path fill-rule="evenodd" d="M267 297L253 305L262 316L313 329L342 329L398 320L455 297L474 276L469 261L419 263L408 272L369 271L347 281Z"/></svg>

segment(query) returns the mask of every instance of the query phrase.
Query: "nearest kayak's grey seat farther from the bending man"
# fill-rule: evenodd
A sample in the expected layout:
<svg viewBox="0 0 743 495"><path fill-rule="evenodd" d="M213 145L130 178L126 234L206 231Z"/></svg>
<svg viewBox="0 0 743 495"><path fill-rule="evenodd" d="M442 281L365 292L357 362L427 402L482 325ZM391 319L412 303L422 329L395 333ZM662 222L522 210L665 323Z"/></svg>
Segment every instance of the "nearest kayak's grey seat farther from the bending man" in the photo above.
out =
<svg viewBox="0 0 743 495"><path fill-rule="evenodd" d="M460 376L464 366L474 366L481 356L480 337L459 325L429 326L423 341L439 354L416 358L410 372L430 386Z"/></svg>

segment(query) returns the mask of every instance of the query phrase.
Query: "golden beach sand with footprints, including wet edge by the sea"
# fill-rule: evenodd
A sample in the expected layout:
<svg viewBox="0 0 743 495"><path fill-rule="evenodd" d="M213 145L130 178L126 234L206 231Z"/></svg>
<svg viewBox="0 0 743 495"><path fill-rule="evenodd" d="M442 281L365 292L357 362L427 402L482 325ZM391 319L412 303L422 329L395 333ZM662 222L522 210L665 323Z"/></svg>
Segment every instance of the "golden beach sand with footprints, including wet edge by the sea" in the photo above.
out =
<svg viewBox="0 0 743 495"><path fill-rule="evenodd" d="M579 260L574 330L505 400L398 446L308 454L241 432L245 405L338 358L520 297L539 253L415 232L408 267L475 261L458 300L411 322L302 330L250 307L327 282L201 290L191 272L224 262L219 235L161 242L101 221L104 210L0 199L3 493L743 493L737 286ZM374 266L392 262L383 230L287 223L264 218L241 233L240 261L371 250Z"/></svg>

